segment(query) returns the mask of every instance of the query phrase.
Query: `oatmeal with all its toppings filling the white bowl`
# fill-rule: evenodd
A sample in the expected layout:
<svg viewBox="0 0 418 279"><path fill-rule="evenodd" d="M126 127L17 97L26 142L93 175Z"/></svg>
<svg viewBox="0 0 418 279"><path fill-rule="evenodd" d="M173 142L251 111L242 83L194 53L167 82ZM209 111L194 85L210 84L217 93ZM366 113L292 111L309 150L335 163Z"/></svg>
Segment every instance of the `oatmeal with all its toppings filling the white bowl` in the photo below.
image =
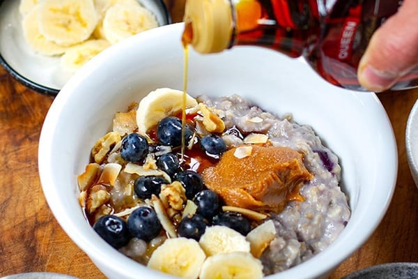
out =
<svg viewBox="0 0 418 279"><path fill-rule="evenodd" d="M182 132L182 94L157 89L116 112L92 147L78 183L95 231L183 278L261 278L327 248L350 209L338 158L314 130L234 95L187 96Z"/></svg>

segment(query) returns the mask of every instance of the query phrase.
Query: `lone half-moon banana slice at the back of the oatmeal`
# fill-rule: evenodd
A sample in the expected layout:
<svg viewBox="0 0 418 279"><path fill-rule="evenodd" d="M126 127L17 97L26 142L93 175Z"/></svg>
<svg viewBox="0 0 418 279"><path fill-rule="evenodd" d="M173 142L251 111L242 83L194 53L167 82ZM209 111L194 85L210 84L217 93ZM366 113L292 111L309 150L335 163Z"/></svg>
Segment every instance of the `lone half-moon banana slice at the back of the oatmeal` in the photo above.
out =
<svg viewBox="0 0 418 279"><path fill-rule="evenodd" d="M197 101L186 95L186 108L194 107ZM160 88L151 91L141 100L137 110L139 134L145 135L149 128L157 125L165 116L181 112L183 109L183 91Z"/></svg>

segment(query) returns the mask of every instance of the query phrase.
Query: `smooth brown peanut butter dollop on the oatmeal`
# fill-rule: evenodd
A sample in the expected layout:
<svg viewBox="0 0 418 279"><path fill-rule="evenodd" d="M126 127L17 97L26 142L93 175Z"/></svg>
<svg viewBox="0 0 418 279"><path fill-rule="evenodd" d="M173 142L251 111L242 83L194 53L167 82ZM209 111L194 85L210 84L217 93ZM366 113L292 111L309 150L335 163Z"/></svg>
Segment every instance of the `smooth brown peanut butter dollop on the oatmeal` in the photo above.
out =
<svg viewBox="0 0 418 279"><path fill-rule="evenodd" d="M280 212L300 197L300 186L314 177L294 149L252 145L248 156L238 158L239 148L226 151L217 165L202 173L206 186L227 205Z"/></svg>

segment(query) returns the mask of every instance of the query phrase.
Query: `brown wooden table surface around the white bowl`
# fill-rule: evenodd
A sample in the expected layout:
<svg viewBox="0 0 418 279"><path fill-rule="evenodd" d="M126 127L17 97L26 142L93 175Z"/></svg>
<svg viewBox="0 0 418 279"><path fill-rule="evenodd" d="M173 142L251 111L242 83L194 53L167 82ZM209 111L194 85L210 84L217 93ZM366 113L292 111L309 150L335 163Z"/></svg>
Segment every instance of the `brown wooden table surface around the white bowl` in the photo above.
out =
<svg viewBox="0 0 418 279"><path fill-rule="evenodd" d="M169 7L174 11L173 21L181 20L181 3ZM376 232L336 269L332 279L376 264L418 262L418 189L405 154L405 126L418 89L389 91L378 97L396 135L396 190ZM52 101L26 89L0 67L0 277L49 271L104 278L56 223L42 193L38 138Z"/></svg>

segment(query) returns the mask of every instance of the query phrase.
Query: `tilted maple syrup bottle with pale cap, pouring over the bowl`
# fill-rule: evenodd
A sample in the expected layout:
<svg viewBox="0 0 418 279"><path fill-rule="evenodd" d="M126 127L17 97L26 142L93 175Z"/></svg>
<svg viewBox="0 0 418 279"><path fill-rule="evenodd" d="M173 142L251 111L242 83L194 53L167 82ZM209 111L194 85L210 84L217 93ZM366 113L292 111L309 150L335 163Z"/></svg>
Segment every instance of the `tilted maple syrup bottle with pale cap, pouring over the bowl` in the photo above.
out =
<svg viewBox="0 0 418 279"><path fill-rule="evenodd" d="M401 6L396 0L187 0L183 44L206 54L255 45L304 56L328 82L366 91L357 66L376 29ZM418 68L392 89L418 86Z"/></svg>

